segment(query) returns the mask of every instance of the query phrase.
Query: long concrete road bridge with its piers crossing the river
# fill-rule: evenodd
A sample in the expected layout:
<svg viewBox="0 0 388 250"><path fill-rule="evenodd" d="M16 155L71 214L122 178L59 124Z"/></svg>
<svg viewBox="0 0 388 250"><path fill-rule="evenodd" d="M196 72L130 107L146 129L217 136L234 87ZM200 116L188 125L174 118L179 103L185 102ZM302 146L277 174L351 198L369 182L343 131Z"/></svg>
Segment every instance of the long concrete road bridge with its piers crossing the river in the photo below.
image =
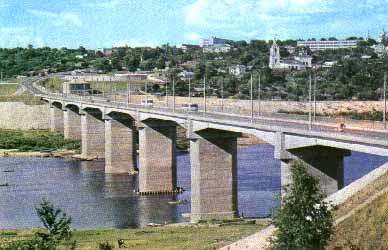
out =
<svg viewBox="0 0 388 250"><path fill-rule="evenodd" d="M275 149L281 161L281 184L291 183L290 164L300 159L321 189L332 194L344 186L344 157L351 151L388 156L381 130L337 131L292 119L192 112L167 107L117 103L101 97L59 95L42 90L40 78L23 85L50 105L51 130L80 139L84 158L105 159L105 172L131 173L136 166L139 132L139 191L176 190L176 128L190 140L191 221L227 219L237 211L237 138L253 135ZM258 155L258 157L260 157Z"/></svg>

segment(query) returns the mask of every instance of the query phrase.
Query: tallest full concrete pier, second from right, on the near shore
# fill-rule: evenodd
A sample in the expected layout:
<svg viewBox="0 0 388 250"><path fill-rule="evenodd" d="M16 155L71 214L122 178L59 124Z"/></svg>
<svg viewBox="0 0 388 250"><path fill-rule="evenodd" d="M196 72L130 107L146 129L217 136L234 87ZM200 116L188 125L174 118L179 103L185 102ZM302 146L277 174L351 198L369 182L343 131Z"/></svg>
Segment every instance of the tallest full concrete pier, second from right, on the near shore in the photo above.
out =
<svg viewBox="0 0 388 250"><path fill-rule="evenodd" d="M238 215L238 136L226 131L203 131L190 139L192 222Z"/></svg>

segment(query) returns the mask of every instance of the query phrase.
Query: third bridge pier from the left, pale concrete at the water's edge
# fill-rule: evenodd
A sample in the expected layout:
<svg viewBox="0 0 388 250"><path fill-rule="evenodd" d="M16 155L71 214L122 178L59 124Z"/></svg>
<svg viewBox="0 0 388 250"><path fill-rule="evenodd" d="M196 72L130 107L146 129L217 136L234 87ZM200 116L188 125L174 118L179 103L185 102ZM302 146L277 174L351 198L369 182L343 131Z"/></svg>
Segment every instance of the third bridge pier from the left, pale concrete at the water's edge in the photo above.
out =
<svg viewBox="0 0 388 250"><path fill-rule="evenodd" d="M83 158L105 157L105 123L97 110L83 111L81 115L81 156Z"/></svg>

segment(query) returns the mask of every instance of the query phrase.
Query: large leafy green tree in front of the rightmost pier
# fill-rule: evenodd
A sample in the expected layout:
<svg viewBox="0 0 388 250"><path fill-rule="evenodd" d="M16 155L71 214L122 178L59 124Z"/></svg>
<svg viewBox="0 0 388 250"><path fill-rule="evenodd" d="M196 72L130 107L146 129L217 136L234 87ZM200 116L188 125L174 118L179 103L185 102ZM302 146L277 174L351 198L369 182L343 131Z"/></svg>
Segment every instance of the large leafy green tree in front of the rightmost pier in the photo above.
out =
<svg viewBox="0 0 388 250"><path fill-rule="evenodd" d="M307 174L303 162L292 164L292 179L274 215L278 231L271 250L324 250L334 233L329 204L318 188L318 180Z"/></svg>

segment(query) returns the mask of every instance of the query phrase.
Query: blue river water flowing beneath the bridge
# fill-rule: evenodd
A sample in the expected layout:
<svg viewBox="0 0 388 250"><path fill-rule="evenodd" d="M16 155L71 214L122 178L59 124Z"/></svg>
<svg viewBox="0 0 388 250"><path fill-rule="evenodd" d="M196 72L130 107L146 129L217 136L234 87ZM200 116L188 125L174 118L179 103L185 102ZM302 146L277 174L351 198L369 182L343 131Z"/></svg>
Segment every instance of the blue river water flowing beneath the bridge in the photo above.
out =
<svg viewBox="0 0 388 250"><path fill-rule="evenodd" d="M266 217L279 202L280 162L270 145L252 145L238 152L239 213ZM345 184L388 161L353 152L345 158ZM137 177L105 175L104 163L72 159L6 157L0 159L0 228L41 226L34 208L41 197L55 203L73 218L74 228L143 227L150 222L187 221L182 213L190 204L171 205L172 199L190 201L190 162L187 153L177 156L178 186L183 194L137 196ZM11 171L9 171L11 170Z"/></svg>

